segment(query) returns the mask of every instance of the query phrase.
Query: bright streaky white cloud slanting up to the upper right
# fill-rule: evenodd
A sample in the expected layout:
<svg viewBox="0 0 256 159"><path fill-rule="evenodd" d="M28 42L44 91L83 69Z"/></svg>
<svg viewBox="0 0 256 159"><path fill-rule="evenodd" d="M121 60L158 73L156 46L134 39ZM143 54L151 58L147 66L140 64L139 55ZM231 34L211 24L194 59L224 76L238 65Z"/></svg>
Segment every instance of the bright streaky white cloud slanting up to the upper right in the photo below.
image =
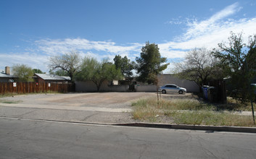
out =
<svg viewBox="0 0 256 159"><path fill-rule="evenodd" d="M179 36L178 40L158 45L162 56L169 59L183 58L186 51L191 48L216 48L218 43L228 40L231 31L243 32L244 42L247 43L248 36L256 33L256 17L240 20L228 19L240 9L242 7L235 3L213 14L208 20L189 22L186 32Z"/></svg>

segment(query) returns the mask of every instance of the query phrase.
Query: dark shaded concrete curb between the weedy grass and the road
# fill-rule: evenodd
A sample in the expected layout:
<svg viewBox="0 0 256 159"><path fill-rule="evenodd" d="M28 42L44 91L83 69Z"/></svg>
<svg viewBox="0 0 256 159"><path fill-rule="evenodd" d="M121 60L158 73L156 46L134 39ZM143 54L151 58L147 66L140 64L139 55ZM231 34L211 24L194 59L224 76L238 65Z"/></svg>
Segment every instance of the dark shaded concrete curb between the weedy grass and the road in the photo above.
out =
<svg viewBox="0 0 256 159"><path fill-rule="evenodd" d="M190 129L203 130L209 132L247 132L256 133L256 127L239 127L239 126L206 126L206 125L176 125L176 124L154 124L154 123L123 123L112 124L116 126L139 126L139 127L153 127L162 129Z"/></svg>

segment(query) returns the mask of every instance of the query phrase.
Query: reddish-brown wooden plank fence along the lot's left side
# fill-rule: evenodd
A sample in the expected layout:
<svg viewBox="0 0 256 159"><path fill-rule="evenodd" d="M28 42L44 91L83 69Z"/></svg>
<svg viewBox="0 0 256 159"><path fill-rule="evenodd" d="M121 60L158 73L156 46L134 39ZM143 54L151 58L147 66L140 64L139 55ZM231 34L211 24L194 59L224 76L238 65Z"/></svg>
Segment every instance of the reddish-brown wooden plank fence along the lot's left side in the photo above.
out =
<svg viewBox="0 0 256 159"><path fill-rule="evenodd" d="M7 93L68 93L74 92L75 85L61 83L46 83L46 82L0 82L0 94Z"/></svg>

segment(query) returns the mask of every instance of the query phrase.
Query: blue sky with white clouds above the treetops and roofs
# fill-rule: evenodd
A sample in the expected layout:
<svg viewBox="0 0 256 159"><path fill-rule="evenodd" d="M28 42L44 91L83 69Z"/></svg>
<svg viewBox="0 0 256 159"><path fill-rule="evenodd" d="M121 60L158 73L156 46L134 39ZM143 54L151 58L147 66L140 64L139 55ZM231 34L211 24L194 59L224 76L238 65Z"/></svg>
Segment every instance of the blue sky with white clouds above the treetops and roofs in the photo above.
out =
<svg viewBox="0 0 256 159"><path fill-rule="evenodd" d="M135 60L146 41L168 61L182 59L191 48L216 48L231 31L255 35L255 7L255 0L1 0L0 70L27 64L48 72L49 56L71 50Z"/></svg>

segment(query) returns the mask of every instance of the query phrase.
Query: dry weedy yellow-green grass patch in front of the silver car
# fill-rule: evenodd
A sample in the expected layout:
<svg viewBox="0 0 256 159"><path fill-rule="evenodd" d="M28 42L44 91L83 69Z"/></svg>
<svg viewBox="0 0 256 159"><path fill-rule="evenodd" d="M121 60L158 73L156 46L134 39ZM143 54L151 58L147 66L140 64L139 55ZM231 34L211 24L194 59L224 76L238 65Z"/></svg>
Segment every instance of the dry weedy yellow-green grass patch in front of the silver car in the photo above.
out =
<svg viewBox="0 0 256 159"><path fill-rule="evenodd" d="M143 98L132 103L133 119L168 124L193 124L213 126L256 126L252 116L239 116L234 111L251 111L251 106L236 103L205 103L195 98ZM255 108L255 103L254 103Z"/></svg>

